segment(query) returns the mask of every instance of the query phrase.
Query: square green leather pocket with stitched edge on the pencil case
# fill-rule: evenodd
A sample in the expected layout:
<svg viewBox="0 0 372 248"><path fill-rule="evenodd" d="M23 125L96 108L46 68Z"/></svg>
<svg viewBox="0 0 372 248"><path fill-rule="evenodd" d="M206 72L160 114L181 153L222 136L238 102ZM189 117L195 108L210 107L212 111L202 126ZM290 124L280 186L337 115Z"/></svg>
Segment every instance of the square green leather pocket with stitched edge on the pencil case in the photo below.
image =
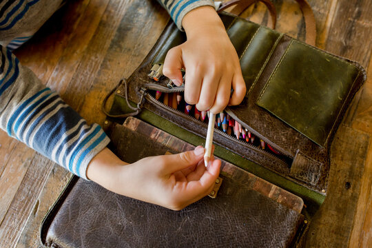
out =
<svg viewBox="0 0 372 248"><path fill-rule="evenodd" d="M351 63L293 40L257 104L324 147L358 71Z"/></svg>

